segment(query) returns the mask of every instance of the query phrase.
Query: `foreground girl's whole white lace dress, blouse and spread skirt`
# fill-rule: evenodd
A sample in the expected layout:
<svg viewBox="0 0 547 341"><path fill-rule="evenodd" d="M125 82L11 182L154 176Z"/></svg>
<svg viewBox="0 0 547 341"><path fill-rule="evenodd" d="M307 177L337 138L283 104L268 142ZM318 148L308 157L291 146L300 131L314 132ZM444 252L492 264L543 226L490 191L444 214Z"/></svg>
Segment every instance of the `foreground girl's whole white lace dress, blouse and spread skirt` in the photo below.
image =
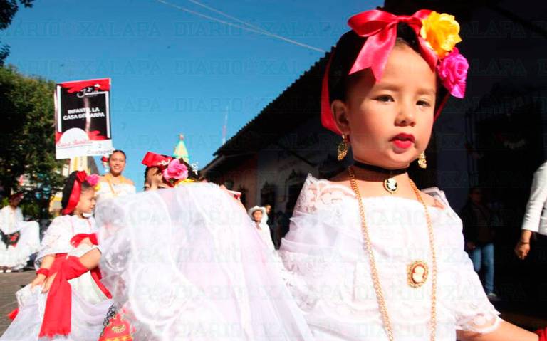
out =
<svg viewBox="0 0 547 341"><path fill-rule="evenodd" d="M500 319L444 203L429 209L436 340L454 341L457 329L488 332ZM423 206L390 196L364 204L395 340L428 340L431 280L407 285L409 263L430 263ZM105 285L135 340L387 340L350 189L309 176L281 257L214 184L126 196L99 204L96 216Z"/></svg>

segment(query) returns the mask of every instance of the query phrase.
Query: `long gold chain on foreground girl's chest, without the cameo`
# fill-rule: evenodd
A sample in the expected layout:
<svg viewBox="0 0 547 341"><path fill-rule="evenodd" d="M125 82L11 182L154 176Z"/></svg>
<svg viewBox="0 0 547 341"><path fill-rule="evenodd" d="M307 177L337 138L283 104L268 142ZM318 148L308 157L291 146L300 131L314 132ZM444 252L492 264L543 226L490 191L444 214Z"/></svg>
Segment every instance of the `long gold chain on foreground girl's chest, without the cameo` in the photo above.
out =
<svg viewBox="0 0 547 341"><path fill-rule="evenodd" d="M384 294L382 292L382 286L380 285L380 276L378 276L378 271L376 269L376 261L373 253L373 246L370 242L370 236L368 234L368 226L365 220L365 208L363 206L363 201L361 199L361 194L359 188L357 187L357 182L355 181L355 173L353 168L348 168L348 173L350 174L350 184L351 189L357 196L357 201L359 203L359 214L361 219L361 232L363 233L363 240L365 241L365 246L368 251L368 261L370 263L370 275L373 277L373 286L376 293L376 300L378 303L378 308L380 310L380 315L382 315L382 322L384 324L385 332L390 341L393 341L393 330L391 328L390 317L387 315L387 305L385 304ZM422 199L422 194L417 189L416 184L410 180L410 187L412 191L416 194L417 200L424 206L425 219L427 221L427 230L429 232L429 248L431 248L431 260L432 260L432 290L431 290L431 334L429 340L435 340L435 331L437 328L437 256L435 255L434 247L434 234L433 234L433 224L431 222L431 217L429 216L429 211L427 210L427 205Z"/></svg>

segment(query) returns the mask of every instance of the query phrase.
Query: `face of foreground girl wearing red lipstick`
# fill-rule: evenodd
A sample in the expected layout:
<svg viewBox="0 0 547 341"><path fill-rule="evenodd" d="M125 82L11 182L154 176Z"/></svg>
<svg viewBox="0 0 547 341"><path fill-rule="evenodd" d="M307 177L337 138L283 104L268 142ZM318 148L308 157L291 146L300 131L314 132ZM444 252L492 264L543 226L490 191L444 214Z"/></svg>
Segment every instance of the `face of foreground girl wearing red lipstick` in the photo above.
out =
<svg viewBox="0 0 547 341"><path fill-rule="evenodd" d="M345 102L332 104L340 131L349 135L353 157L388 169L407 167L429 143L437 77L419 53L397 44L382 79L370 70L348 85Z"/></svg>

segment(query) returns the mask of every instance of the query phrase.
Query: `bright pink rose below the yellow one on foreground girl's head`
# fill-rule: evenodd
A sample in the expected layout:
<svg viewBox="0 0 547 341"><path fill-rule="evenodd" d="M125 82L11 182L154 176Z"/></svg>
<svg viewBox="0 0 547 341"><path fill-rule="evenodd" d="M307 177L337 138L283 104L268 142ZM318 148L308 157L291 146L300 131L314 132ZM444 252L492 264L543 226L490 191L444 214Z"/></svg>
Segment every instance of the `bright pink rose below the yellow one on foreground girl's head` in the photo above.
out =
<svg viewBox="0 0 547 341"><path fill-rule="evenodd" d="M444 88L447 88L450 95L456 98L464 98L465 81L469 63L462 56L458 48L454 48L448 56L442 58L437 65L437 73Z"/></svg>

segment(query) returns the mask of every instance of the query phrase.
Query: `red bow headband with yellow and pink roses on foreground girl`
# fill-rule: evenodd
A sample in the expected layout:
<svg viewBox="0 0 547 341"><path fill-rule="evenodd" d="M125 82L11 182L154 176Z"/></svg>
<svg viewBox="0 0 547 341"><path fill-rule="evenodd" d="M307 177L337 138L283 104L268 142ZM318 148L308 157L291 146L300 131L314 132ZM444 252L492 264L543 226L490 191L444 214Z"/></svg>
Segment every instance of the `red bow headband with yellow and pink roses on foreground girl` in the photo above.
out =
<svg viewBox="0 0 547 341"><path fill-rule="evenodd" d="M459 24L454 20L454 16L438 14L427 9L417 11L412 16L396 16L377 9L352 16L348 25L358 36L367 39L348 74L352 75L370 68L376 81L382 78L387 58L389 58L397 39L397 23L407 23L415 31L422 58L432 70L437 68L437 74L449 93L455 97L463 98L469 65L465 58L459 54L458 49L454 48L455 43L461 41L458 35ZM436 34L443 30L447 31L442 32L444 36L442 33ZM325 128L341 135L342 132L338 130L333 112L330 110L328 75L332 60L331 56L323 76L321 123ZM437 112L435 112L435 118L441 112L447 99L448 95L442 99Z"/></svg>

